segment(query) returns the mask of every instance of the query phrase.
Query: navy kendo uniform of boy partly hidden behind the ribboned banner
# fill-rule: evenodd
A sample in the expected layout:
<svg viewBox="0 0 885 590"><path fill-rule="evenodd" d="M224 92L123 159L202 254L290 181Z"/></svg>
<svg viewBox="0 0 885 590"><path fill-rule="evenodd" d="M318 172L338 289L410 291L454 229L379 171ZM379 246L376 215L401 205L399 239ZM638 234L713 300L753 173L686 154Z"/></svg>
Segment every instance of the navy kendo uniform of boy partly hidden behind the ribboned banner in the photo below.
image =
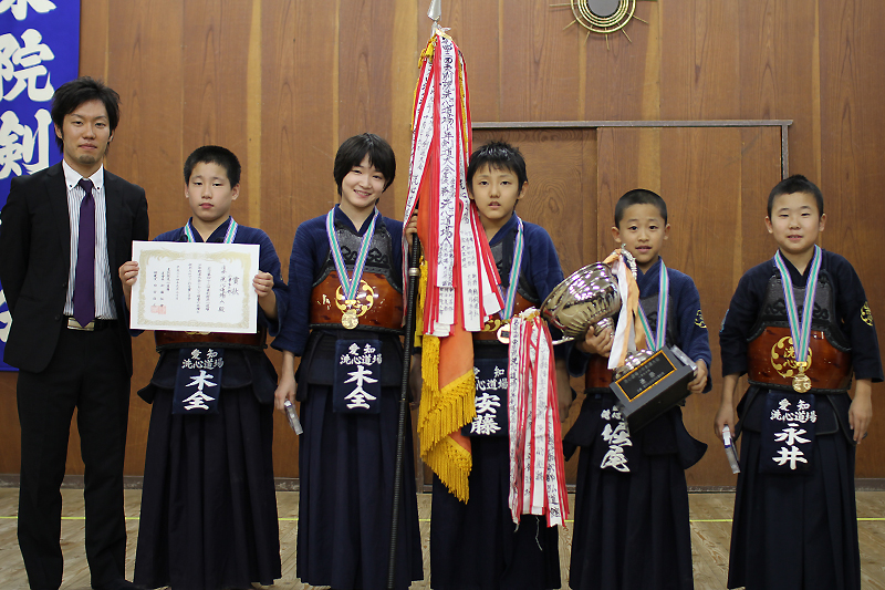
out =
<svg viewBox="0 0 885 590"><path fill-rule="evenodd" d="M550 235L516 214L489 245L504 294L510 296L506 301L513 301L507 318L540 307L563 280ZM514 265L514 255L519 262L518 252L521 263ZM513 286L516 289L511 289ZM473 462L469 501L460 501L434 476L430 581L435 590L560 587L558 527L548 527L545 517L532 515L522 515L517 527L508 505L508 346L498 341L501 324L494 318L486 322L482 332L473 333L477 417L461 431L470 436Z"/></svg>

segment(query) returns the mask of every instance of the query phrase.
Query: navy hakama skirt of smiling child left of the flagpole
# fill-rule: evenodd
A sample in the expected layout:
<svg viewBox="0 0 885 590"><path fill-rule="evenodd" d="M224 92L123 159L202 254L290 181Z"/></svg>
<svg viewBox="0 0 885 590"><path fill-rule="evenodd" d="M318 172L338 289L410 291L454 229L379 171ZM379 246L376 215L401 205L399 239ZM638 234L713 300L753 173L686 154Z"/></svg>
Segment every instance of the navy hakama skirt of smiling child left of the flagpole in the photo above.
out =
<svg viewBox="0 0 885 590"><path fill-rule="evenodd" d="M385 589L391 549L399 390L382 389L381 414L332 411L332 387L301 403L298 577L335 589ZM412 432L406 414L406 432ZM412 436L404 465L414 466ZM414 468L403 470L396 588L423 576Z"/></svg>

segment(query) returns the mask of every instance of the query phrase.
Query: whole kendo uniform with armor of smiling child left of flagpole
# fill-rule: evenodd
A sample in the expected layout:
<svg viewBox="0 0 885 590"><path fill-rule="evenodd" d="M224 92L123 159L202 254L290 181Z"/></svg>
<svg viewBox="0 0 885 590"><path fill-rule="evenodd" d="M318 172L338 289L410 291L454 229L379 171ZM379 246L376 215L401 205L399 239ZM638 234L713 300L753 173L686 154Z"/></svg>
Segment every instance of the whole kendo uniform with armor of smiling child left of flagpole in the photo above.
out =
<svg viewBox="0 0 885 590"><path fill-rule="evenodd" d="M403 374L402 235L403 224L377 209L357 230L335 206L301 224L292 245L289 311L273 346L301 356L296 567L312 586L387 587ZM423 578L409 414L406 421L396 588Z"/></svg>

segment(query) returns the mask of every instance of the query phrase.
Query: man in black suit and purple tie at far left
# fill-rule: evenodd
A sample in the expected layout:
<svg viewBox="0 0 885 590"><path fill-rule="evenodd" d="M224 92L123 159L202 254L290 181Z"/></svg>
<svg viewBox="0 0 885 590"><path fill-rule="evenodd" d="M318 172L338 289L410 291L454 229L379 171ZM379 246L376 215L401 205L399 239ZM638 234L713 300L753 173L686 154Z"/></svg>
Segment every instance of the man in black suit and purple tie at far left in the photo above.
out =
<svg viewBox="0 0 885 590"><path fill-rule="evenodd" d="M147 200L102 165L119 121L116 92L90 77L69 82L55 91L52 121L63 162L14 178L0 213L0 282L12 314L4 361L20 370L19 546L31 588L56 590L76 407L92 587L125 589L132 341L116 269L133 240L147 239Z"/></svg>

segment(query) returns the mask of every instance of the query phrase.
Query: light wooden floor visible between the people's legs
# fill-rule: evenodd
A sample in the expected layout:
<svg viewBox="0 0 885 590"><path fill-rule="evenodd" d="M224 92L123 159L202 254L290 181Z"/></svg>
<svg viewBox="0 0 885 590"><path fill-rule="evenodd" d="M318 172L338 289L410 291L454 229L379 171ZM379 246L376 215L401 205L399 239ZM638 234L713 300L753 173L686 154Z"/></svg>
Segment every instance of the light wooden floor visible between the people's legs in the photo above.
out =
<svg viewBox="0 0 885 590"><path fill-rule="evenodd" d="M64 498L62 522L62 550L64 551L64 582L62 590L88 590L90 578L83 552L83 496L80 489L62 490ZM24 566L15 539L15 511L18 489L0 488L0 588L25 590L28 588ZM728 571L728 540L731 531L733 494L691 494L691 548L695 562L696 590L722 589ZM277 494L280 515L280 544L283 577L273 590L308 590L295 578L295 522L298 518L298 493ZM128 548L126 573L132 579L135 567L135 542L138 537L139 490L126 490L126 518ZM424 550L425 579L429 579L428 537L430 531L430 496L418 497L421 519L421 544ZM858 491L857 517L861 538L861 567L864 589L885 590L885 491ZM560 536L560 557L563 563L562 579L568 579L571 555L571 530L566 527ZM427 589L427 582L412 586L414 590ZM563 588L566 588L563 586Z"/></svg>

